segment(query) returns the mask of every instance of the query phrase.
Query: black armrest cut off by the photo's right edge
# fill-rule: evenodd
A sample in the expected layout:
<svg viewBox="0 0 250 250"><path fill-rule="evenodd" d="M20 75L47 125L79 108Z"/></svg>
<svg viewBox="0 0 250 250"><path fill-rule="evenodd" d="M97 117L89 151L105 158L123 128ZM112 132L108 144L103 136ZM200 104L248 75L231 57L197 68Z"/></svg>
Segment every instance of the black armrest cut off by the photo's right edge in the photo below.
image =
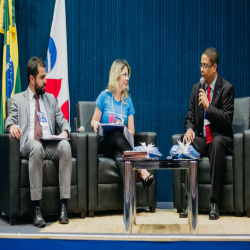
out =
<svg viewBox="0 0 250 250"><path fill-rule="evenodd" d="M250 129L244 131L244 210L250 212ZM249 215L248 215L249 216Z"/></svg>

